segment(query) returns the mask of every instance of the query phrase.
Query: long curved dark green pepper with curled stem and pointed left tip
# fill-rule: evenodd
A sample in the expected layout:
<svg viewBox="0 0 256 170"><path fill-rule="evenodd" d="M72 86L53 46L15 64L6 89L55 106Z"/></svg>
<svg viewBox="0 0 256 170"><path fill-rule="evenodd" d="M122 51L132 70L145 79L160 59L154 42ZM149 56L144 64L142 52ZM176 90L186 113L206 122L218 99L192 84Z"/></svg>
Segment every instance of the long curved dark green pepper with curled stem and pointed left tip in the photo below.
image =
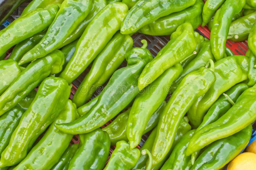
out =
<svg viewBox="0 0 256 170"><path fill-rule="evenodd" d="M127 66L115 71L100 93L97 103L87 114L74 122L55 126L66 133L88 133L103 126L131 103L139 94L139 75L145 65L152 60L151 53L146 49L146 42L142 40L144 45L141 48L135 47L125 54Z"/></svg>

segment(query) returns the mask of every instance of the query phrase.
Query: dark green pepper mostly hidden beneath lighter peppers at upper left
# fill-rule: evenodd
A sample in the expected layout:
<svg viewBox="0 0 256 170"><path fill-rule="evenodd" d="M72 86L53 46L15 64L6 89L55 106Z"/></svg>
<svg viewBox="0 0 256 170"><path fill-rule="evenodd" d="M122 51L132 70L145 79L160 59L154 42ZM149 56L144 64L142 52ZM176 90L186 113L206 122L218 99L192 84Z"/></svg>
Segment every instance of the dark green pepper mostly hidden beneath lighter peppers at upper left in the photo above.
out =
<svg viewBox="0 0 256 170"><path fill-rule="evenodd" d="M9 59L19 62L24 54L26 54L29 50L31 50L34 46L36 46L39 41L44 37L46 31L39 32L32 37L25 39L18 43L12 50L12 53Z"/></svg>

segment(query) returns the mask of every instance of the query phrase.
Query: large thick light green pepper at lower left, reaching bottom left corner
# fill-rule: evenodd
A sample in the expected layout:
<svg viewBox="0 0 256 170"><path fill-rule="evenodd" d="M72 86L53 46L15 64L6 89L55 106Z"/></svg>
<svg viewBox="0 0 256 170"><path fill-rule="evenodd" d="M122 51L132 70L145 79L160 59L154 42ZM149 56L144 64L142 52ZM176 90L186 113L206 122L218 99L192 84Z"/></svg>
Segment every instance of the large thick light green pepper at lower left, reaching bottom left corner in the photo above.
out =
<svg viewBox="0 0 256 170"><path fill-rule="evenodd" d="M56 77L44 79L39 86L35 99L28 110L21 116L19 125L12 133L9 145L2 152L0 167L15 165L26 157L36 138L58 117L60 111L67 103L69 95L70 87L65 80ZM62 132L59 133L63 134ZM72 138L71 135L69 136ZM62 145L63 141L58 143ZM56 148L55 145L53 146ZM53 159L52 157L49 158Z"/></svg>

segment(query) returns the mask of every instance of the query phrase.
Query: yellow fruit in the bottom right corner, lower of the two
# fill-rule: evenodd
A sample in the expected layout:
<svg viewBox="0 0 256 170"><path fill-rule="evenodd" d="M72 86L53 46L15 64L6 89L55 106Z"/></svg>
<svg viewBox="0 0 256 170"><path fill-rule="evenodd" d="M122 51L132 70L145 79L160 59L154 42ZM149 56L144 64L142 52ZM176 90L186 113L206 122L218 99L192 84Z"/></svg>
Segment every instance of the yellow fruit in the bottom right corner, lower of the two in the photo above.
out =
<svg viewBox="0 0 256 170"><path fill-rule="evenodd" d="M229 162L227 170L255 170L256 169L256 154L244 152L231 162Z"/></svg>

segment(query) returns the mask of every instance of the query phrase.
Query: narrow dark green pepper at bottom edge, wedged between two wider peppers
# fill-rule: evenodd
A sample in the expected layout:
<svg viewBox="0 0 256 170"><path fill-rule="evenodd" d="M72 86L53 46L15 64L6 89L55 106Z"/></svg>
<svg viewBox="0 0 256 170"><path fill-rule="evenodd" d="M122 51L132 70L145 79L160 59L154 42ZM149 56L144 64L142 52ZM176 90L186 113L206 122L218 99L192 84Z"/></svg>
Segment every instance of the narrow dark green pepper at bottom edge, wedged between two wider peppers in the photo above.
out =
<svg viewBox="0 0 256 170"><path fill-rule="evenodd" d="M59 161L51 168L51 170L68 170L70 160L74 157L79 144L69 145L62 154Z"/></svg>

